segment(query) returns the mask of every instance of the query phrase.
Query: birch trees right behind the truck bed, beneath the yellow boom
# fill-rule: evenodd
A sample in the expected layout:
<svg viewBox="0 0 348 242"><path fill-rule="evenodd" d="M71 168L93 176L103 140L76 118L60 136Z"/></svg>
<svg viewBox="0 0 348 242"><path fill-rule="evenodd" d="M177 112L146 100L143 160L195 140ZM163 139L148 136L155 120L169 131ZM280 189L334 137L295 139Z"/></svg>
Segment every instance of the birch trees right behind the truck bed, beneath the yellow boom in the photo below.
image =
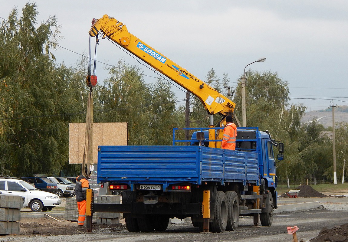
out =
<svg viewBox="0 0 348 242"><path fill-rule="evenodd" d="M98 93L101 122L127 122L129 145L170 145L180 125L170 84L158 79L147 84L139 67L119 62Z"/></svg>

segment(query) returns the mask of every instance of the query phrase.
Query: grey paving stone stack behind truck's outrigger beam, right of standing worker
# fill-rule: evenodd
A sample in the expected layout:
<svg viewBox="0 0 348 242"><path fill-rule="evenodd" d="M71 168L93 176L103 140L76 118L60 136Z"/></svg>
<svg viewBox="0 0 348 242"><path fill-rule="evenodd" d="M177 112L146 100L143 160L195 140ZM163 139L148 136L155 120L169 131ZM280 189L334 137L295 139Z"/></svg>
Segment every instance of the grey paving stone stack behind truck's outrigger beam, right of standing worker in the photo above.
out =
<svg viewBox="0 0 348 242"><path fill-rule="evenodd" d="M96 197L96 203L120 203L120 196L114 195L102 195ZM94 215L93 215L94 216ZM119 224L120 223L120 213L118 212L98 212L97 224Z"/></svg>

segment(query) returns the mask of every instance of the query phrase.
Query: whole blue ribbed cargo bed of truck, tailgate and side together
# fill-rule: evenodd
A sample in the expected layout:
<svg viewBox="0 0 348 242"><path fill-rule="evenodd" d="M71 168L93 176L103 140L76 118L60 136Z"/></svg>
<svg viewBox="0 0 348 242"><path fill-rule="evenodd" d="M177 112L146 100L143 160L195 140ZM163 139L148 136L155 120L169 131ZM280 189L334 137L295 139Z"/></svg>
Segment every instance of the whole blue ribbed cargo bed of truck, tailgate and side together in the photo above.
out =
<svg viewBox="0 0 348 242"><path fill-rule="evenodd" d="M99 146L98 182L201 184L256 182L258 156L201 146Z"/></svg>

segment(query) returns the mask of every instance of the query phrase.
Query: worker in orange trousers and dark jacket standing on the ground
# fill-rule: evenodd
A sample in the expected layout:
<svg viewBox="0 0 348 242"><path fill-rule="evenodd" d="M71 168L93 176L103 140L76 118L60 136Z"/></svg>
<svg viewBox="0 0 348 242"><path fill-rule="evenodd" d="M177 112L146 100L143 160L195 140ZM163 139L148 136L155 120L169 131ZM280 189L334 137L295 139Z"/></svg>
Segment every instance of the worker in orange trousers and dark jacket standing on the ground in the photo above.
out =
<svg viewBox="0 0 348 242"><path fill-rule="evenodd" d="M86 199L87 199L87 189L89 189L89 175L87 169L85 169L87 176L82 174L76 177L75 195L77 201L77 207L79 209L79 226L84 226L86 218Z"/></svg>

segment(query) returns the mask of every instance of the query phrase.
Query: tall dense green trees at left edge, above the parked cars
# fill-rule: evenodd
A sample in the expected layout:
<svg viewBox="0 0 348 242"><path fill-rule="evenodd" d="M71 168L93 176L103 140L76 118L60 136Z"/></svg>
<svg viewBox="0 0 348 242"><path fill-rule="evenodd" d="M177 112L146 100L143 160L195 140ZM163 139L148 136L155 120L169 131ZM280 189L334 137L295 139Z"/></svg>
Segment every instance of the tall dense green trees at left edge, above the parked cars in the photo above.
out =
<svg viewBox="0 0 348 242"><path fill-rule="evenodd" d="M59 34L55 17L38 27L35 3L18 18L13 9L0 32L0 140L6 151L0 174L23 176L67 168L69 113L80 110L71 96L71 69L56 67L50 52ZM69 91L67 91L69 89ZM75 88L76 89L76 88ZM61 115L67 114L67 115Z"/></svg>

